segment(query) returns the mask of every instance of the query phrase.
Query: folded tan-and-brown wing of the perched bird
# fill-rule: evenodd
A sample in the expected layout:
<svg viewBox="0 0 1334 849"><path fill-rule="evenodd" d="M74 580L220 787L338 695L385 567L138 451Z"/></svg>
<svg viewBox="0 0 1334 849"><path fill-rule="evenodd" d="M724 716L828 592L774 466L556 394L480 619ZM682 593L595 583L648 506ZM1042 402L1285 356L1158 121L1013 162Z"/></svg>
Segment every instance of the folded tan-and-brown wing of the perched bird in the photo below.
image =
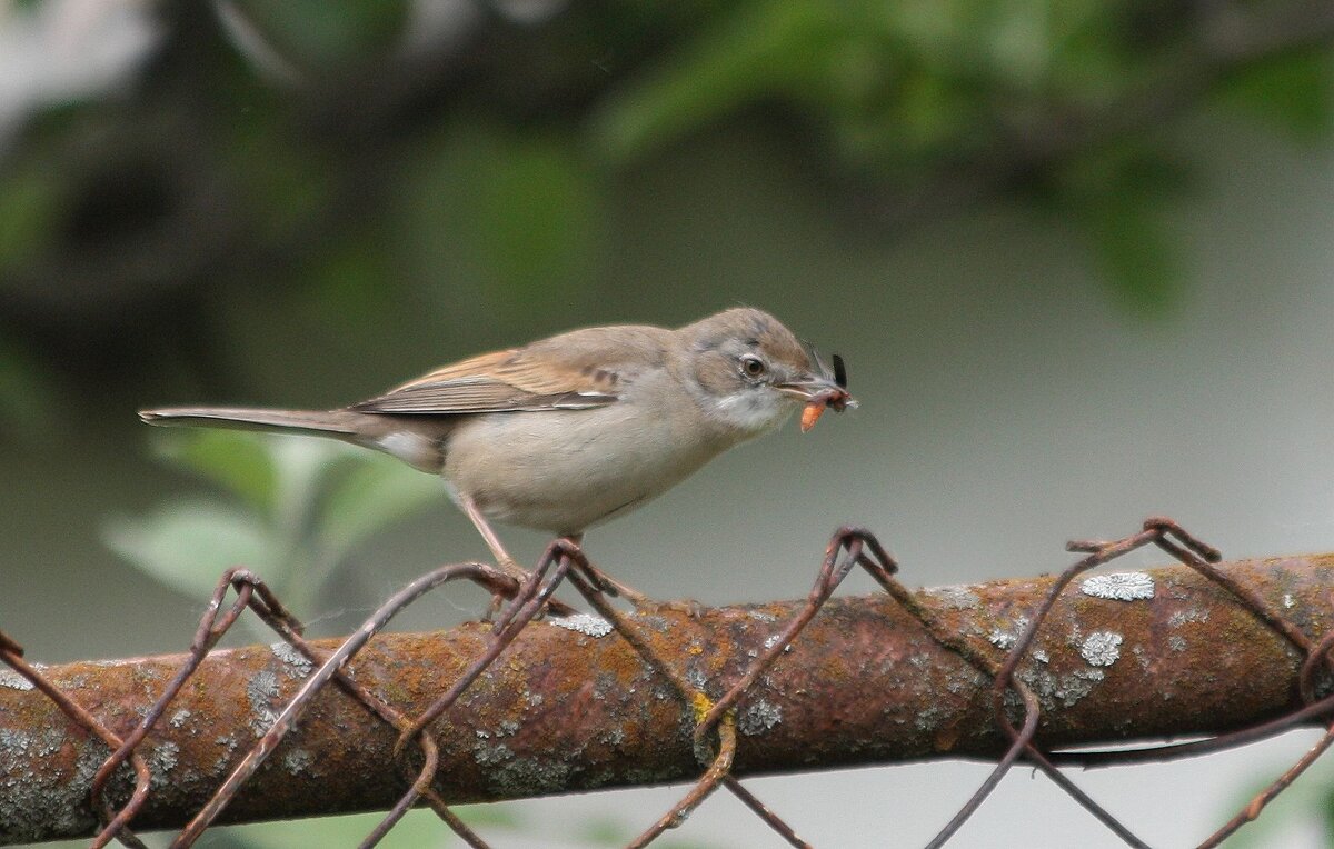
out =
<svg viewBox="0 0 1334 849"><path fill-rule="evenodd" d="M607 329L612 328L603 328ZM386 395L354 404L351 409L451 415L604 407L616 403L632 376L660 351L654 335L635 340L643 344L630 345L627 356L623 345L608 351L572 339L582 333L576 331L527 348L496 351L444 365Z"/></svg>

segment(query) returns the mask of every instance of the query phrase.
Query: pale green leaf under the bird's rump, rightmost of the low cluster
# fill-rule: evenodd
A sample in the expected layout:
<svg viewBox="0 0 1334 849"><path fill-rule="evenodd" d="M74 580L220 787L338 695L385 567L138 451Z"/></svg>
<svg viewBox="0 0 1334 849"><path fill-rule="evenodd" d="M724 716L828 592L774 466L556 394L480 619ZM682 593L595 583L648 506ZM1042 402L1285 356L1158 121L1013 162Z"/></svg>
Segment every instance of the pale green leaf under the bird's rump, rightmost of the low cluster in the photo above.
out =
<svg viewBox="0 0 1334 849"><path fill-rule="evenodd" d="M342 560L431 501L443 501L443 496L444 486L434 474L392 457L367 453L321 500L316 540L329 560Z"/></svg>

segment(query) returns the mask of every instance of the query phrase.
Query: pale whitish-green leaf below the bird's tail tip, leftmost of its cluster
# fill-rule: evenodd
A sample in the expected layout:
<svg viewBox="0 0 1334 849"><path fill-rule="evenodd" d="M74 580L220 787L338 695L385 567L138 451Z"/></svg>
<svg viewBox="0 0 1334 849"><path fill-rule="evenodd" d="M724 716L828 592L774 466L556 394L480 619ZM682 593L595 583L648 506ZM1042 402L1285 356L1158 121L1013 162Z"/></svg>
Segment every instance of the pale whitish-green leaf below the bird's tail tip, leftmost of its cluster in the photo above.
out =
<svg viewBox="0 0 1334 849"><path fill-rule="evenodd" d="M287 569L259 517L217 501L188 501L112 518L103 541L141 572L191 598L208 597L231 566L281 582Z"/></svg>

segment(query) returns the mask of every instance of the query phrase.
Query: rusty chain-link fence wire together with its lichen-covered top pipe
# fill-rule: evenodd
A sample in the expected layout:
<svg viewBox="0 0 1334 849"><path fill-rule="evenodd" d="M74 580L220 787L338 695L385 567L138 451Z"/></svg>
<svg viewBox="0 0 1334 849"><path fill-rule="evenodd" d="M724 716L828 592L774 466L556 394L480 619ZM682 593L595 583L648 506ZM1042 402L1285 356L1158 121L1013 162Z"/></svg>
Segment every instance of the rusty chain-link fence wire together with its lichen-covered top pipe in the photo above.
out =
<svg viewBox="0 0 1334 849"><path fill-rule="evenodd" d="M1071 589L1082 573L1147 545L1169 553L1179 566L1162 573L1098 574L1086 578L1078 592ZM1127 845L1145 846L1131 830L1133 824L1107 813L1061 766L1201 754L1293 725L1327 722L1334 713L1327 686L1329 652L1334 646L1334 598L1329 592L1334 586L1334 557L1218 565L1217 550L1166 518L1150 518L1138 533L1122 540L1071 542L1070 550L1083 557L1054 578L912 592L895 578L895 562L874 536L843 528L830 541L804 602L731 610L664 605L631 614L608 600L607 582L582 550L558 540L523 584L483 564L443 566L388 598L354 634L339 641L308 641L301 624L257 576L231 569L219 581L183 656L85 664L77 672L57 672L29 664L17 642L0 634L0 661L12 670L0 670L5 676L0 680L0 732L24 741L23 746L9 746L9 772L0 781L0 796L9 797L0 810L0 840L95 833L92 846L112 841L141 846L131 830L136 825L179 828L172 846L189 846L215 822L388 808L362 841L371 846L404 813L426 805L468 845L487 846L450 809L451 804L660 782L688 773L694 764L688 792L630 846L646 846L680 825L719 789L735 794L788 844L806 846L779 812L746 789L739 774L948 754L991 757L995 769L931 846L944 845L1017 764L1045 773ZM884 596L828 604L843 578L858 568ZM507 600L495 621L432 644L434 649L424 648L426 637L380 634L414 601L458 581L480 585ZM574 586L596 616L544 616L551 594L562 584ZM293 692L279 686L276 673L256 665L265 662L265 652L216 650L221 636L247 610L280 637L267 660L277 656L285 662L287 684ZM1062 621L1061 638L1053 636L1058 630L1054 618ZM564 642L555 648L551 642L531 649L516 645L520 634L534 632L534 622L556 625L543 630ZM756 629L758 624L764 628ZM1222 634L1230 641L1227 650L1221 650L1217 638L1199 641L1207 645L1197 649L1186 636L1190 626ZM704 629L704 637L699 629ZM683 636L687 632L692 636ZM619 653L590 648L592 640L608 636L619 640ZM380 645L366 652L372 642ZM1139 657L1141 668L1131 670L1131 677L1117 677L1113 666L1123 642L1158 645L1162 654ZM872 652L874 668L886 674L902 676L911 669L920 688L878 690L884 682L862 674L871 661L854 660L862 650ZM1057 657L1062 650L1077 656L1081 669L1070 673L1062 666L1067 662ZM583 654L588 665L562 665L559 658L571 654ZM99 669L105 670L105 678L99 677ZM168 669L173 672L167 674ZM619 710L619 730L604 734L603 750L636 766L622 765L618 772L604 761L600 773L586 770L578 780L571 777L568 764L564 772L530 769L532 774L524 778L531 781L518 782L512 790L494 785L479 790L478 776L442 749L442 728L451 722L466 725L452 710L462 708L460 698L479 689L487 689L487 697L470 710L499 710L498 700L512 702L520 689L496 684L507 670L526 676L528 682L523 709L540 717L531 734L550 745L570 745L571 732L588 738L592 729L615 725L599 710ZM1134 676L1158 692L1195 689L1163 710L1159 704L1139 704L1150 700L1134 697ZM618 697L608 698L606 689L598 692L595 680L618 681ZM243 696L228 689L228 682L237 681L245 682ZM558 692L564 693L564 713L542 709L543 688L552 701ZM1102 701L1071 697L1097 689L1106 693ZM343 696L339 709L329 708L335 693ZM228 713L215 704L208 709L212 713L195 717L207 713L200 705L209 698L217 704L240 701L245 710ZM599 702L616 704L606 708ZM317 704L323 706L315 708ZM935 722L928 733L895 750L888 742L867 742L876 728L858 725L855 717L862 716L858 710L868 709L899 726L903 722L895 712L934 712L951 718ZM770 742L766 749L764 733L778 716L784 717L787 741ZM848 737L852 744L838 749L838 733L822 724L822 717L830 716L855 732ZM201 721L208 725L200 728ZM506 722L500 720L502 726ZM624 729L635 722L640 740L627 742ZM511 733L516 728L512 722ZM671 745L679 729L687 738L684 760ZM293 732L304 736L304 749L283 748ZM1062 750L1079 742L1201 732L1211 733L1189 744ZM480 730L476 734L484 736ZM668 742L655 742L655 734ZM392 768L387 776L380 774L384 769L376 773L367 761L356 760L356 752L366 748L362 744L376 737L391 741L386 760ZM739 744L742 737L747 738L746 746ZM93 740L104 748L93 745ZM253 742L241 746L241 740ZM192 741L221 748L216 769L204 769L204 754L189 749ZM1331 742L1334 726L1199 845L1218 845L1259 816ZM522 748L514 741L511 745ZM850 754L852 750L858 754ZM89 757L89 752L95 756ZM804 760L796 752L803 752ZM276 772L269 764L275 753L283 753L285 765L295 768L287 770L288 778L312 762L327 768L325 777L313 785L296 782L296 793L303 796L297 802L279 800L281 793L265 777ZM368 757L374 762L384 754L372 750ZM49 774L43 773L43 760ZM61 765L52 766L56 761ZM179 761L189 768L177 770ZM47 784L39 780L43 774ZM347 780L346 786L336 786L331 777L339 774ZM21 792L25 781L29 789L36 788L33 794ZM57 785L59 792L52 789ZM312 790L317 790L315 798ZM382 804L386 801L392 804ZM69 810L59 812L61 806Z"/></svg>

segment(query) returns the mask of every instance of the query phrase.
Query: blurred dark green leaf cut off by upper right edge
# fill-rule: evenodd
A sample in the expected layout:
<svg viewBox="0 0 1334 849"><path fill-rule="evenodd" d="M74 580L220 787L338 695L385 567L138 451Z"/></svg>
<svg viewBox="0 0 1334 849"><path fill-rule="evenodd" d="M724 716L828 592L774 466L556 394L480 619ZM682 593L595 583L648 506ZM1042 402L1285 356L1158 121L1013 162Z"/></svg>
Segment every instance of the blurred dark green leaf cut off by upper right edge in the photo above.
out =
<svg viewBox="0 0 1334 849"><path fill-rule="evenodd" d="M1322 48L1245 68L1223 83L1219 99L1298 141L1327 141L1334 129L1334 52Z"/></svg>

